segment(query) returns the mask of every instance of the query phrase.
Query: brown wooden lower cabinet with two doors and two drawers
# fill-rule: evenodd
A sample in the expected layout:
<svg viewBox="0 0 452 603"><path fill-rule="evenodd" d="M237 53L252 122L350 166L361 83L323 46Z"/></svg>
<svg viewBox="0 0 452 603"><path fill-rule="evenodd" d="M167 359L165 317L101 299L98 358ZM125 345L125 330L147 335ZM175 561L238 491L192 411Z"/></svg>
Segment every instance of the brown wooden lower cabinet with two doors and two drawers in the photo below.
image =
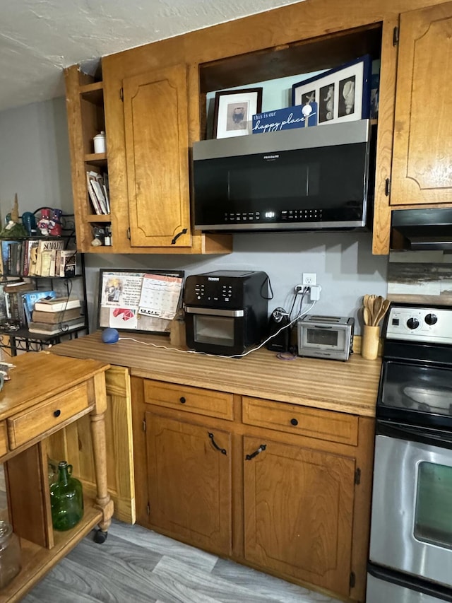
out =
<svg viewBox="0 0 452 603"><path fill-rule="evenodd" d="M364 601L374 420L132 377L137 521Z"/></svg>

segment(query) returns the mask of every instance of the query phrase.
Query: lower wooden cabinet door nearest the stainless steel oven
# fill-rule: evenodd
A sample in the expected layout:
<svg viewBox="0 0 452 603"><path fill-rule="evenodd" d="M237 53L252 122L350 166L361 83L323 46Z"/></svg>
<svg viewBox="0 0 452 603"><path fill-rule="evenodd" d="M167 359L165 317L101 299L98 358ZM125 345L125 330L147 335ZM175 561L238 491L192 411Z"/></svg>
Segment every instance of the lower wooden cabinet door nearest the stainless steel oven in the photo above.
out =
<svg viewBox="0 0 452 603"><path fill-rule="evenodd" d="M244 460L245 558L347 597L355 459L244 438L259 449Z"/></svg>

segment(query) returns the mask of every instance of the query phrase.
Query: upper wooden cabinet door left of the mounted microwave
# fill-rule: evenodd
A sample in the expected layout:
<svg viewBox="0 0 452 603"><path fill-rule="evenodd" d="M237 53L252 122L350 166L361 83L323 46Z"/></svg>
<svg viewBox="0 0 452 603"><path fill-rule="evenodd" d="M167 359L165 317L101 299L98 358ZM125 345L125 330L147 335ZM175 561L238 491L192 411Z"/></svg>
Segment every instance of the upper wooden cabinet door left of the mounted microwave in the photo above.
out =
<svg viewBox="0 0 452 603"><path fill-rule="evenodd" d="M186 68L124 79L133 247L191 245Z"/></svg>

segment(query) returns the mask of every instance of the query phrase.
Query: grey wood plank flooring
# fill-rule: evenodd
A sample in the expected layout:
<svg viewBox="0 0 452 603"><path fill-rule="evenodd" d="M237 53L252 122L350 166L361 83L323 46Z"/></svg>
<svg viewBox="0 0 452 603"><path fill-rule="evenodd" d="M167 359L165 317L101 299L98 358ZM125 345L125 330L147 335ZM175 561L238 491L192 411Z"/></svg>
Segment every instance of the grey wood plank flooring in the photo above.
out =
<svg viewBox="0 0 452 603"><path fill-rule="evenodd" d="M340 603L139 525L114 520L93 532L23 603Z"/></svg>

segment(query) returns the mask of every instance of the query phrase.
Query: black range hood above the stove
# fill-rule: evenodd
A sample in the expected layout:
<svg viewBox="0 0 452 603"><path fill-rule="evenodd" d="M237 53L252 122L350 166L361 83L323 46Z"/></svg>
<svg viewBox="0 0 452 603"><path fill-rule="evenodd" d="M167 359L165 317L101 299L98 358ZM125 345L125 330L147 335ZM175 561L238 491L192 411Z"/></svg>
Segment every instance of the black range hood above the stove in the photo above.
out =
<svg viewBox="0 0 452 603"><path fill-rule="evenodd" d="M391 249L452 250L452 209L396 209Z"/></svg>

